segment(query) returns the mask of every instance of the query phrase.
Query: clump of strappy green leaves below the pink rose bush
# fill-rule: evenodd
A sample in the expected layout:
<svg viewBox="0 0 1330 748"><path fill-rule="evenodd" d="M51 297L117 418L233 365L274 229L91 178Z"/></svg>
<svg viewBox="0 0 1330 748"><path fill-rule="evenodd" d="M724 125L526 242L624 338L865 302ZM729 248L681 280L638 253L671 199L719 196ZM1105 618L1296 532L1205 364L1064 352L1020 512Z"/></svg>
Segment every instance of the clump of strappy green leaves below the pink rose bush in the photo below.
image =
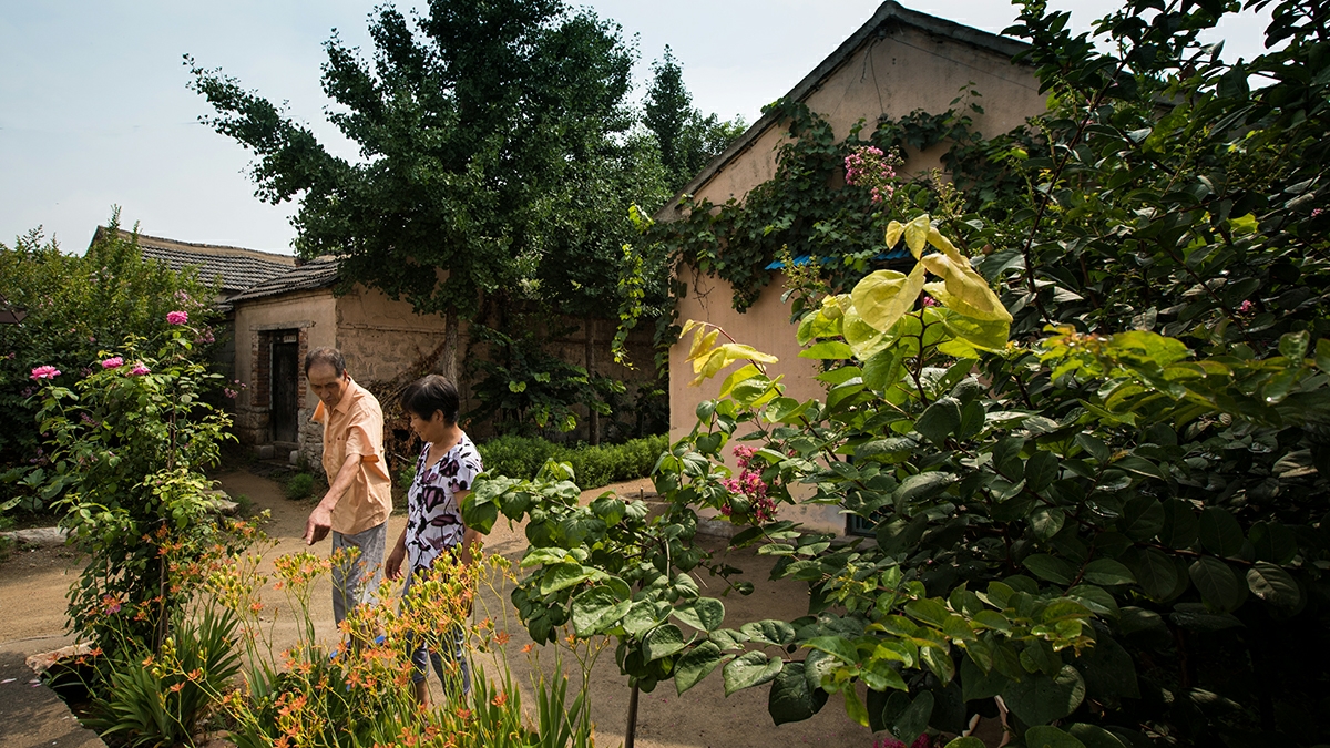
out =
<svg viewBox="0 0 1330 748"><path fill-rule="evenodd" d="M101 663L106 681L85 724L125 745L182 745L241 669L238 619L225 608L178 616L161 652L122 651Z"/></svg>

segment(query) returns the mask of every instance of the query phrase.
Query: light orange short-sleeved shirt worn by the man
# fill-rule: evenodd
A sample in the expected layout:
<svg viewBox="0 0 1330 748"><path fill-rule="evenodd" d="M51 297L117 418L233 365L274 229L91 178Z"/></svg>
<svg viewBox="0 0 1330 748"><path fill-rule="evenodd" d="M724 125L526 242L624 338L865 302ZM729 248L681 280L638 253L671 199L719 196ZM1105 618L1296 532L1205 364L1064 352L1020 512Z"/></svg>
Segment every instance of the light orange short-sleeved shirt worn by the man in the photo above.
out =
<svg viewBox="0 0 1330 748"><path fill-rule="evenodd" d="M392 514L392 482L383 459L383 409L368 390L348 382L331 411L319 401L314 421L323 425L323 471L336 479L347 455L360 455L360 470L332 508L332 530L355 535Z"/></svg>

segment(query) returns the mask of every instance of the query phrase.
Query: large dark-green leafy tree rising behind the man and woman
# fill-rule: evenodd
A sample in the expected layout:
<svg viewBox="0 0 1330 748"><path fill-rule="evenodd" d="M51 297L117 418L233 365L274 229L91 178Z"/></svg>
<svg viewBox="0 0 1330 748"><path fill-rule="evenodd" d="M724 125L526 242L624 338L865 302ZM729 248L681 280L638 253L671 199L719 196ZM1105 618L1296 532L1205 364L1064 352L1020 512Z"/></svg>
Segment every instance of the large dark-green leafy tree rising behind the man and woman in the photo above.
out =
<svg viewBox="0 0 1330 748"><path fill-rule="evenodd" d="M339 254L346 282L447 318L455 377L460 318L491 295L539 298L540 269L609 242L614 217L629 230L640 190L614 170L637 148L624 101L634 55L616 24L560 0L435 0L410 19L386 5L370 36L366 60L334 35L323 65L329 120L359 145L355 161L186 59L190 87L217 110L205 121L255 153L258 196L299 200L302 256ZM616 189L592 189L593 202L575 186L601 182Z"/></svg>

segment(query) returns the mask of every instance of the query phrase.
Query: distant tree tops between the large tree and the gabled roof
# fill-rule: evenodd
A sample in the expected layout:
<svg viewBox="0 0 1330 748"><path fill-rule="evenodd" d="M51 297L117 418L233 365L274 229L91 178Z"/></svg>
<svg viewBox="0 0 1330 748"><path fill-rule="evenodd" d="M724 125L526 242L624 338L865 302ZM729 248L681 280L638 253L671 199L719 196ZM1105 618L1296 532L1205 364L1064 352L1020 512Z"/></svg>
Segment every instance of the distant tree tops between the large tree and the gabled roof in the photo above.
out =
<svg viewBox="0 0 1330 748"><path fill-rule="evenodd" d="M656 136L661 164L669 176L669 190L684 188L747 129L742 117L721 120L702 116L693 108L693 94L684 87L684 69L669 47L652 63L653 79L646 88L642 124Z"/></svg>

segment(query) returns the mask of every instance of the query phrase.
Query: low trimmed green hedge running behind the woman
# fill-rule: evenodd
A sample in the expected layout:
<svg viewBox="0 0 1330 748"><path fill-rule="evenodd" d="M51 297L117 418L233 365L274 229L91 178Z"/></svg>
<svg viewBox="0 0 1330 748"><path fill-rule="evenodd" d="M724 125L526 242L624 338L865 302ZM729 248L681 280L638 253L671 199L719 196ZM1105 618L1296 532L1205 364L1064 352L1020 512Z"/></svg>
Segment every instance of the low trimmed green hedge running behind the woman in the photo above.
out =
<svg viewBox="0 0 1330 748"><path fill-rule="evenodd" d="M549 461L567 463L584 488L650 475L669 446L664 435L630 439L622 445L565 447L537 437L499 437L479 445L491 475L535 478Z"/></svg>

